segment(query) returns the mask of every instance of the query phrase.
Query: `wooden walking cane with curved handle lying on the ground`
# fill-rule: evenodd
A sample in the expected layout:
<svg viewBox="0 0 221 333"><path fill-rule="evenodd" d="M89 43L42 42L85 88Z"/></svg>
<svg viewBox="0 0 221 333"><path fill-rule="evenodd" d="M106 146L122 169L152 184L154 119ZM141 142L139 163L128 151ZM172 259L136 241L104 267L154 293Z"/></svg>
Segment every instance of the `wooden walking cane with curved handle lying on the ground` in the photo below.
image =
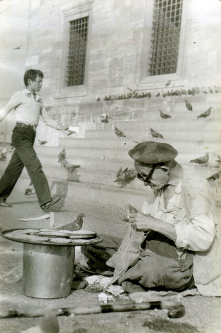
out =
<svg viewBox="0 0 221 333"><path fill-rule="evenodd" d="M57 310L57 316L70 316L72 314L92 314L92 313L107 313L121 311L136 311L136 310L152 310L152 309L167 309L167 315L170 318L183 317L185 307L183 304L174 301L156 301L145 303L130 303L130 304L104 304L94 305L92 307L72 307L60 308ZM0 310L0 318L9 317L41 317L44 316L45 309L30 309L27 311L19 310Z"/></svg>

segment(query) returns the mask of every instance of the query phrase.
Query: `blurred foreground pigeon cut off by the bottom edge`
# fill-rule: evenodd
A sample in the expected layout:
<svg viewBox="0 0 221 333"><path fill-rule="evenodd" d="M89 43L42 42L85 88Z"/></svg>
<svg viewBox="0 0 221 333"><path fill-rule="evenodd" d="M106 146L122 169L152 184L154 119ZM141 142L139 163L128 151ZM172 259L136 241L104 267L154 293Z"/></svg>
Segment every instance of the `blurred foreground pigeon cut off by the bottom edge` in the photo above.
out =
<svg viewBox="0 0 221 333"><path fill-rule="evenodd" d="M20 333L59 333L59 322L57 318L57 309L48 306L45 309L45 315L37 326L28 328Z"/></svg>

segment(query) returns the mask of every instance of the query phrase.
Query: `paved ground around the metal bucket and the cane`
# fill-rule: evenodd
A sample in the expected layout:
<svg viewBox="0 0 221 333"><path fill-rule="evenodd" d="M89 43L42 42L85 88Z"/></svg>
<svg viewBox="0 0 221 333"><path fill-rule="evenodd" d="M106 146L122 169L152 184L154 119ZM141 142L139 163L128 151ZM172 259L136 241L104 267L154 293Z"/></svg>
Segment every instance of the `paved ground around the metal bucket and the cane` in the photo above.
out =
<svg viewBox="0 0 221 333"><path fill-rule="evenodd" d="M49 227L49 220L19 222L18 218L40 216L43 214L38 206L35 194L25 196L24 191L16 185L10 200L12 208L0 207L1 227ZM70 223L77 215L84 212L83 229L94 230L109 235L122 237L127 223L118 217L118 207L95 205L90 202L79 202L62 198L54 208L55 227ZM22 263L22 244L8 241L0 237L0 262L3 276L16 265ZM7 283L0 279L1 309L44 308L49 304L58 307L98 305L98 293L84 290L73 290L70 296L60 299L35 299L22 294L22 277L15 283ZM128 303L127 294L115 298L115 303ZM58 317L60 333L143 333L143 332L208 332L221 331L220 298L188 296L182 303L186 315L179 319L169 319L164 310L146 310L107 314L76 315ZM37 325L39 318L8 318L0 319L1 333L19 333L24 329Z"/></svg>

